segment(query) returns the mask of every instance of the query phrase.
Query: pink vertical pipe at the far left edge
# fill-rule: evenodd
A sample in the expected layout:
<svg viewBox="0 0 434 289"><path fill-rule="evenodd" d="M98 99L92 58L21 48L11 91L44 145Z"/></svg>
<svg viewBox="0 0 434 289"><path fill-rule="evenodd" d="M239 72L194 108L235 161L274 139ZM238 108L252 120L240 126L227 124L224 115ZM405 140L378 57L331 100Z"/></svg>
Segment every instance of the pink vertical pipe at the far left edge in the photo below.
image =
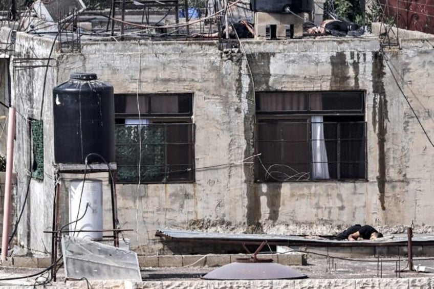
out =
<svg viewBox="0 0 434 289"><path fill-rule="evenodd" d="M9 217L11 214L12 195L12 165L13 165L13 139L15 135L15 108L9 107L8 142L6 145L6 181L5 203L3 207L3 235L2 235L2 260L8 256L9 248Z"/></svg>

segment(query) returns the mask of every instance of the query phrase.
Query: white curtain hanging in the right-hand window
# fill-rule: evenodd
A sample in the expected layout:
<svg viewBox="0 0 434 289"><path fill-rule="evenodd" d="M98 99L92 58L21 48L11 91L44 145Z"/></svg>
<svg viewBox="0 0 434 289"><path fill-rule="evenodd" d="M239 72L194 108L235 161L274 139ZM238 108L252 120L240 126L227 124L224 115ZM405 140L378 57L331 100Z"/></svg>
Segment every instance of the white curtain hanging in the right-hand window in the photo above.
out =
<svg viewBox="0 0 434 289"><path fill-rule="evenodd" d="M330 179L322 116L312 117L312 179Z"/></svg>

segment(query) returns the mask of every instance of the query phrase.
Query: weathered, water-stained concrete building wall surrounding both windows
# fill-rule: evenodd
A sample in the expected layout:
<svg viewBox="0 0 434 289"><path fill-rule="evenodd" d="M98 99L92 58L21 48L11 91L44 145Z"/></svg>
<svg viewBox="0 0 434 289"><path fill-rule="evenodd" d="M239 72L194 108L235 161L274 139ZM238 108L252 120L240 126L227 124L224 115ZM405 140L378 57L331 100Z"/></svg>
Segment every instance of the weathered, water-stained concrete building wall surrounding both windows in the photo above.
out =
<svg viewBox="0 0 434 289"><path fill-rule="evenodd" d="M39 57L48 57L51 40L18 35L18 41L20 55L30 53L32 47ZM57 69L49 70L46 96L77 71L97 73L114 86L115 93L193 93L196 182L117 186L120 225L135 230L125 237L139 253L163 249L154 237L161 227L244 231L250 226L254 231L261 230L262 224L267 231L286 228L280 233L294 234L300 233L299 228L330 233L321 227L353 223L395 226L415 221L422 226L434 221L429 198L433 154L385 62L390 58L400 68L396 74L404 77L406 95L430 135L434 126L429 92L434 87L429 67L434 51L411 43L401 51L385 50L386 56L375 38L244 41L247 55L222 53L212 41L82 43L81 54L56 56ZM44 74L44 69L14 72L15 86L30 84L15 88L14 100L23 115L38 112ZM367 181L254 183L253 166L242 164L254 154L253 87L256 91L366 91ZM49 97L44 120L45 169L53 175ZM16 149L21 155L15 165L22 170L19 192L23 196L30 157L24 120L19 125ZM44 186L31 187L27 219L37 210L40 214L36 206L44 207L42 224L29 227L28 244L39 251L43 251L42 227L51 227L53 184L46 177ZM104 204L110 204L108 194ZM109 211L106 207L106 228L111 226ZM47 245L49 240L44 240Z"/></svg>

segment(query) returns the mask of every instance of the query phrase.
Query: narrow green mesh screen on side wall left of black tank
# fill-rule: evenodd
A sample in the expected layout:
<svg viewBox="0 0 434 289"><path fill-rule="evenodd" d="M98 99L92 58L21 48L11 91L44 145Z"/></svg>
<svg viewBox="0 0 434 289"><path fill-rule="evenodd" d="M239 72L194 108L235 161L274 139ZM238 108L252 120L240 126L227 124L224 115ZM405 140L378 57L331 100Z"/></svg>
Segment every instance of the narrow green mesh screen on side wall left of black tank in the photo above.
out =
<svg viewBox="0 0 434 289"><path fill-rule="evenodd" d="M44 180L44 127L41 120L30 120L33 143L32 177Z"/></svg>

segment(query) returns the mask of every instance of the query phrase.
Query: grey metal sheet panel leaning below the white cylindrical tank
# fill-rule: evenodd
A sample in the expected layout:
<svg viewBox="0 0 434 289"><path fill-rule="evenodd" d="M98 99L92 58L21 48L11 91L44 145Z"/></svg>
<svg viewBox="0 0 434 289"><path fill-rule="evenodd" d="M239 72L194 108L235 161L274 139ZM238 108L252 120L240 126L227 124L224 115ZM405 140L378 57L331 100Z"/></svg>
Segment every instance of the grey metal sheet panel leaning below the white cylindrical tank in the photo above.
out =
<svg viewBox="0 0 434 289"><path fill-rule="evenodd" d="M63 235L62 253L67 279L142 280L134 252Z"/></svg>

